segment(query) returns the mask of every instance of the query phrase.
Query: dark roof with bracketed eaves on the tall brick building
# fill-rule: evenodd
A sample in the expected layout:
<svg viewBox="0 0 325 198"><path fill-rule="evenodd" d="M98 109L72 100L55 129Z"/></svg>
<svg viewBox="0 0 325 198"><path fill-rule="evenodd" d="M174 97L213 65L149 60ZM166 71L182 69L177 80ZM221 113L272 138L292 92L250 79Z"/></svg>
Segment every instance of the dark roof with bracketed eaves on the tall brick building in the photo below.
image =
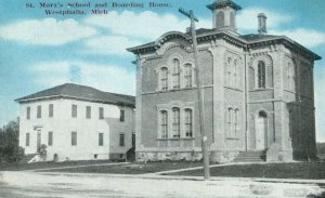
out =
<svg viewBox="0 0 325 198"><path fill-rule="evenodd" d="M289 48L290 50L294 51L299 51L303 55L308 56L309 58L312 58L314 61L321 60L322 57L318 56L317 54L313 53L309 49L304 48L303 45L299 44L298 42L289 39L286 36L275 36L275 35L255 35L255 34L249 34L249 35L234 35L230 34L226 30L218 30L216 28L212 29L207 29L207 28L200 28L196 30L197 35L197 41L198 43L202 41L207 41L207 40L214 40L214 39L224 39L235 45L238 45L244 49L251 49L255 47L261 47L261 45L269 45L269 44L277 44L282 43L285 47ZM150 42L143 45L139 47L133 47L127 49L129 52L133 52L134 54L142 54L146 52L153 52L157 49L160 48L164 42L178 38L178 37L183 37L186 39L188 42L192 42L192 37L190 32L182 34L180 31L170 31L167 34L164 34L159 39L157 39L155 42Z"/></svg>

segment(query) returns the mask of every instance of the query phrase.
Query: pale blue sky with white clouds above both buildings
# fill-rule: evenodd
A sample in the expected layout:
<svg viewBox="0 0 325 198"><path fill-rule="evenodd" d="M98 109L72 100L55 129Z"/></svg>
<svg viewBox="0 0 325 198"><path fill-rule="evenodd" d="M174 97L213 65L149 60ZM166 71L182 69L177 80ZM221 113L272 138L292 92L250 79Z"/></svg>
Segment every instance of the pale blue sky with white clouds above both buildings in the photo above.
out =
<svg viewBox="0 0 325 198"><path fill-rule="evenodd" d="M243 6L237 13L239 34L257 32L256 15L264 12L270 34L286 35L325 57L325 1L234 1ZM0 126L18 116L13 100L65 82L134 94L134 56L125 49L153 41L168 30L184 30L188 21L178 12L180 6L194 10L200 19L198 27L211 27L206 5L212 0L155 1L172 4L165 9L109 6L108 15L101 17L47 16L39 0L28 1L35 9L27 9L26 2L0 0ZM67 0L43 2L66 4ZM315 63L314 77L316 136L325 142L325 61Z"/></svg>

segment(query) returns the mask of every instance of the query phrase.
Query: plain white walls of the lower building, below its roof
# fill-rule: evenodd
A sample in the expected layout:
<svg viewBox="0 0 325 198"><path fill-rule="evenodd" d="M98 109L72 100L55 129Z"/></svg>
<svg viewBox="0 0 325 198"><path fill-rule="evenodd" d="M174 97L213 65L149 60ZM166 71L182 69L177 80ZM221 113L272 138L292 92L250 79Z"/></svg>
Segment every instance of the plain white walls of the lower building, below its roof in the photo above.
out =
<svg viewBox="0 0 325 198"><path fill-rule="evenodd" d="M49 117L49 104L54 105L53 118ZM77 118L72 117L72 105L77 105ZM41 118L37 118L37 106L41 105ZM26 109L30 107L30 119L26 119ZM86 106L91 106L91 119L86 118ZM99 108L104 108L104 118L99 119ZM119 132L131 136L129 133L133 131L132 113L133 109L126 109L126 122L119 123L119 106L84 102L77 100L57 98L47 101L35 101L31 103L21 104L21 123L20 123L20 145L25 148L25 154L36 154L37 151L37 131L41 132L41 144L48 146L48 159L53 160L53 155L58 155L58 160L83 160L108 159L109 151L126 151L131 146L126 144L123 149L119 145L109 140L119 137ZM130 118L129 118L130 117ZM132 118L132 119L131 119ZM114 127L109 130L107 120L115 120ZM121 130L120 127L122 127ZM53 145L48 145L49 131L53 131ZM77 146L72 145L72 132L77 132ZM26 146L26 133L30 134L29 146ZM104 133L104 145L99 146L99 133ZM116 141L116 140L115 140ZM115 142L114 141L114 142ZM117 147L117 149L116 149Z"/></svg>

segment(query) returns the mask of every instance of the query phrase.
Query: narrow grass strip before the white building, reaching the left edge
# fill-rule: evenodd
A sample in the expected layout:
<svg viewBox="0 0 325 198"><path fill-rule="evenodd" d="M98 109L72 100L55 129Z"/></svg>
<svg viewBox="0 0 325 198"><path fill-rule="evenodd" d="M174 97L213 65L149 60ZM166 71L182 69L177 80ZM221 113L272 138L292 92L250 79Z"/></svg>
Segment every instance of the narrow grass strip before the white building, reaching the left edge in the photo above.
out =
<svg viewBox="0 0 325 198"><path fill-rule="evenodd" d="M63 162L35 162L35 163L12 163L12 164L0 164L0 171L24 171L34 169L48 169L48 168L60 168L60 167L73 167L73 166L84 166L84 164L98 164L98 163L112 163L110 160L81 160L81 161L63 161Z"/></svg>

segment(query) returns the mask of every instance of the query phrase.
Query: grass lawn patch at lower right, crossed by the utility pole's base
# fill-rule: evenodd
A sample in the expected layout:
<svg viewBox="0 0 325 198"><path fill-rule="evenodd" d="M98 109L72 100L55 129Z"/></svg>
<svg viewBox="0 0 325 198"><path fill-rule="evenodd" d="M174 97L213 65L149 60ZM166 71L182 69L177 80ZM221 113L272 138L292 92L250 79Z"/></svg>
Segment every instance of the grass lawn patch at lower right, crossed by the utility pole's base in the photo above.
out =
<svg viewBox="0 0 325 198"><path fill-rule="evenodd" d="M202 176L203 170L183 171L167 175ZM325 179L325 162L292 162L269 164L238 164L210 169L211 176Z"/></svg>

